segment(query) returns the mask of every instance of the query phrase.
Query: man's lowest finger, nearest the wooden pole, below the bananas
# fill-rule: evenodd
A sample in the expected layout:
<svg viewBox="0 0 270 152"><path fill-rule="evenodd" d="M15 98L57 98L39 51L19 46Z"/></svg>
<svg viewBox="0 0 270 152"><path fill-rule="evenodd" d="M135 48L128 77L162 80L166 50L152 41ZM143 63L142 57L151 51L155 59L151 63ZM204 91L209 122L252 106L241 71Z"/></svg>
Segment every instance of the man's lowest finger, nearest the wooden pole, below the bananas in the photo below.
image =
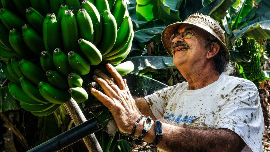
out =
<svg viewBox="0 0 270 152"><path fill-rule="evenodd" d="M107 95L104 95L102 92L92 88L92 95L94 95L100 102L104 104L110 111L115 107L115 103L112 99L110 99Z"/></svg>

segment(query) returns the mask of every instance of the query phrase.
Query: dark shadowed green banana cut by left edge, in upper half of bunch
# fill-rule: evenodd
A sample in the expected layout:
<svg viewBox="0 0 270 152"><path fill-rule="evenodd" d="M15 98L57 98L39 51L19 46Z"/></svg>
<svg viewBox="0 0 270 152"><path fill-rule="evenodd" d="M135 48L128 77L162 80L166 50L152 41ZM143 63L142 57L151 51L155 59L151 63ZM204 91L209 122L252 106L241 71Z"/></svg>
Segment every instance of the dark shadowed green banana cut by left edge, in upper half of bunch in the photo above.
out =
<svg viewBox="0 0 270 152"><path fill-rule="evenodd" d="M10 44L9 41L9 31L8 29L5 27L5 25L0 21L0 42L4 45L4 47L7 50L13 51L13 48Z"/></svg>

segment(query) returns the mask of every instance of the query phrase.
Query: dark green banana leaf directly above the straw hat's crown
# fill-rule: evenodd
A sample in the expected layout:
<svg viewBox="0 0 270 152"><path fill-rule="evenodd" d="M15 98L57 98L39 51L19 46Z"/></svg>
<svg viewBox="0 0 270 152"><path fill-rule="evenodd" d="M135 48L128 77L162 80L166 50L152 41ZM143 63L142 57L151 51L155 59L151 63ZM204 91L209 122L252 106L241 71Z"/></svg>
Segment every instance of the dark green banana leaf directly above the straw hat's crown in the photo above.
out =
<svg viewBox="0 0 270 152"><path fill-rule="evenodd" d="M227 10L233 5L236 0L213 0L198 12L205 15L210 15L216 21L224 18L228 14Z"/></svg>

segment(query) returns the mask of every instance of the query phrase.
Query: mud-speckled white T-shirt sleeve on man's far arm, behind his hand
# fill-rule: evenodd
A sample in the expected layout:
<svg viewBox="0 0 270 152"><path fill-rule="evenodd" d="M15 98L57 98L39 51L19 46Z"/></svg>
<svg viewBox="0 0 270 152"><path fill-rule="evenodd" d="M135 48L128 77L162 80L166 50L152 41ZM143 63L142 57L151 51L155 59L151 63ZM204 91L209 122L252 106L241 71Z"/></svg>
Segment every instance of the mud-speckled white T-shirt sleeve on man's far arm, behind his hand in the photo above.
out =
<svg viewBox="0 0 270 152"><path fill-rule="evenodd" d="M153 115L158 119L163 119L164 111L168 102L168 97L171 92L178 86L178 84L161 89L157 92L152 93L151 95L145 96Z"/></svg>

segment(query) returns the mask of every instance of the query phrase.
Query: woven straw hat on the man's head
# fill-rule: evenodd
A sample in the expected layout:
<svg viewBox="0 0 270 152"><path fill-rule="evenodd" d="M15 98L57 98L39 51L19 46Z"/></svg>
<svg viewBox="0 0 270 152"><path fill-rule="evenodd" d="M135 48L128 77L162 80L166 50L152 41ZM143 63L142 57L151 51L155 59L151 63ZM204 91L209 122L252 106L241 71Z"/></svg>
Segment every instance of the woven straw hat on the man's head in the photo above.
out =
<svg viewBox="0 0 270 152"><path fill-rule="evenodd" d="M228 48L226 47L225 37L223 35L223 30L220 25L211 17L203 15L201 13L195 13L187 17L187 19L183 22L176 22L174 24L168 25L161 34L162 43L166 49L166 51L172 56L171 46L172 42L170 42L170 37L172 34L177 33L178 27L181 24L194 25L199 27L206 32L210 33L222 44L224 51L226 52L226 59L230 62L230 53Z"/></svg>

